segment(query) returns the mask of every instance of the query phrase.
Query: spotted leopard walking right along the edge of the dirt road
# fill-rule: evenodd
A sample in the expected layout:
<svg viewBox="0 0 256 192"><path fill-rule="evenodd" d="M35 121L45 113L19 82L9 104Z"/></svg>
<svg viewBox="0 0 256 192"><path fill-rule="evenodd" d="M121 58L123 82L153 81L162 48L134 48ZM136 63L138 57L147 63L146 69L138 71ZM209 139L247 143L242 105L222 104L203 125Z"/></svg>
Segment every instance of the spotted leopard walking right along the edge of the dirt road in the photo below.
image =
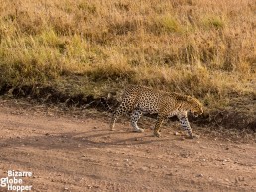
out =
<svg viewBox="0 0 256 192"><path fill-rule="evenodd" d="M138 127L138 120L142 115L157 114L157 122L154 127L153 136L161 136L161 125L164 120L177 116L182 128L187 131L188 138L198 138L192 132L188 120L188 112L198 117L203 113L203 106L198 99L176 92L166 92L142 85L128 85L122 95L122 100L116 110L113 112L110 130L114 130L117 119L130 114L130 123L134 132L144 132L144 129Z"/></svg>

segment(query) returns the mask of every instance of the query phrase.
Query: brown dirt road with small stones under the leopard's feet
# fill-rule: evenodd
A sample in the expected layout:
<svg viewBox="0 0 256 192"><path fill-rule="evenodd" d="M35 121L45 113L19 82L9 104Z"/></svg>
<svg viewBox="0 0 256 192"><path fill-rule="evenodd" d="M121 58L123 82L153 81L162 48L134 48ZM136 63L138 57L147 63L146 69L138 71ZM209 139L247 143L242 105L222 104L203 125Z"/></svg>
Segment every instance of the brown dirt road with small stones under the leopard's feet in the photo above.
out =
<svg viewBox="0 0 256 192"><path fill-rule="evenodd" d="M210 138L194 126L201 138L182 140L178 123L166 123L162 138L133 133L125 121L109 131L98 112L12 102L0 100L0 178L30 171L22 184L32 191L256 191L255 143Z"/></svg>

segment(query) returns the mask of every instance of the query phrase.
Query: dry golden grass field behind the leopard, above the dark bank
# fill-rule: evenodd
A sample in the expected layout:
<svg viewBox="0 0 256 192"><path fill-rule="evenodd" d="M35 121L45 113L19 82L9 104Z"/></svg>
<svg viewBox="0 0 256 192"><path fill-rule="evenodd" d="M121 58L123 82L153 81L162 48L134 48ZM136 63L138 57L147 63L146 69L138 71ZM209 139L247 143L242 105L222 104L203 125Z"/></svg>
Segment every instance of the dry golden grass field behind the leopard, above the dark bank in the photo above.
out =
<svg viewBox="0 0 256 192"><path fill-rule="evenodd" d="M138 83L227 106L256 94L255 9L252 0L0 0L0 86L100 95Z"/></svg>

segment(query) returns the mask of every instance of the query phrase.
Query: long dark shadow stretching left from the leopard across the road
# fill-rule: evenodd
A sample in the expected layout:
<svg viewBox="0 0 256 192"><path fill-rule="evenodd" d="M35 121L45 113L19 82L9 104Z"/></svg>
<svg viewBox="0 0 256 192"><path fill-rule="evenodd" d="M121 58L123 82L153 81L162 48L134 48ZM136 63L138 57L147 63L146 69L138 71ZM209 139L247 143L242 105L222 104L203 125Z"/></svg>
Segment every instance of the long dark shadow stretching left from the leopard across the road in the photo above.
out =
<svg viewBox="0 0 256 192"><path fill-rule="evenodd" d="M61 150L81 150L89 148L108 148L127 145L140 145L149 144L154 142L163 142L168 139L156 139L151 135L139 135L129 137L129 133L125 131L111 132L106 130L97 130L97 134L94 131L89 132L66 132L66 133L47 133L42 136L32 137L15 137L1 141L0 148L4 147L35 147L43 150L48 149L61 149ZM120 140L118 135L126 134L126 139ZM137 133L138 134L138 133ZM169 139L170 140L170 139Z"/></svg>

